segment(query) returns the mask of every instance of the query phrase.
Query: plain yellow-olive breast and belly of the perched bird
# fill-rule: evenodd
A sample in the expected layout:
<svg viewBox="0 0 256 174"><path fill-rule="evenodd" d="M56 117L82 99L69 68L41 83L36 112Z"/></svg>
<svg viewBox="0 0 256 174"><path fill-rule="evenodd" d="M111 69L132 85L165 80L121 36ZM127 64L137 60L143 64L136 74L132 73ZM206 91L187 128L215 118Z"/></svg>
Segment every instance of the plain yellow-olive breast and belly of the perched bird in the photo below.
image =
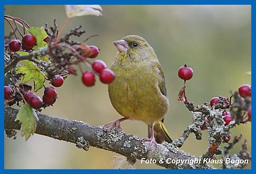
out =
<svg viewBox="0 0 256 174"><path fill-rule="evenodd" d="M124 117L151 124L168 110L168 99L160 93L158 76L147 64L112 65L115 80L109 84L113 107Z"/></svg>

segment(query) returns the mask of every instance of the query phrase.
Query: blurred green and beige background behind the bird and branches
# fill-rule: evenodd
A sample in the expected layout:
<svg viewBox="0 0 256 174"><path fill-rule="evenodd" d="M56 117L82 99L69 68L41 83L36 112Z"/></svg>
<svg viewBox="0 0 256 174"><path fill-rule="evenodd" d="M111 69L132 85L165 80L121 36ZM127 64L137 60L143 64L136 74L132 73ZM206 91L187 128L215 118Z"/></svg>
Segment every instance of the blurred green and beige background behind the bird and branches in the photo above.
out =
<svg viewBox="0 0 256 174"><path fill-rule="evenodd" d="M61 26L66 18L64 6L5 6L5 14L23 18L31 26L52 24L54 18ZM155 49L163 66L170 108L166 114L165 125L173 139L182 135L183 130L192 123L192 113L177 95L183 81L177 71L183 64L194 70L193 79L187 82L189 101L196 105L209 102L213 96L230 96L230 90L241 84L251 84L251 6L250 5L102 5L103 16L83 16L71 18L63 34L82 25L84 38L99 34L88 41L89 45L100 48L97 57L111 65L117 52L113 41L136 34L143 36ZM5 34L10 26L5 23ZM87 67L83 66L83 70ZM97 79L98 80L98 79ZM48 85L48 83L46 84ZM62 119L81 120L97 126L121 118L113 109L107 85L98 80L93 88L81 82L81 74L70 75L61 88L56 89L58 100L54 107L43 110L44 114ZM43 90L38 92L42 96ZM147 126L143 122L122 122L125 132L141 138L147 136ZM232 129L231 138L243 134L248 139L251 152L251 123ZM207 132L203 140L196 140L191 134L181 148L195 156L207 150ZM232 153L238 152L241 143L236 144ZM5 136L6 169L111 169L114 156L106 150L90 147L84 151L72 143L54 140L34 134L27 142L17 132L17 139ZM156 165L136 167L159 168ZM215 165L220 167L220 165ZM248 165L246 168L251 168Z"/></svg>

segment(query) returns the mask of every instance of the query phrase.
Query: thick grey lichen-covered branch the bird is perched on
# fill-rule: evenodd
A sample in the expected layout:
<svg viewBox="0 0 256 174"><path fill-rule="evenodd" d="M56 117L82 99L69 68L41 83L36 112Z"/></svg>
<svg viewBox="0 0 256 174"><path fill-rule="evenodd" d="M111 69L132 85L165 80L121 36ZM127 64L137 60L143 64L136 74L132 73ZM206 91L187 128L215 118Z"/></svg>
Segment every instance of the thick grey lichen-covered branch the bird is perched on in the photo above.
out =
<svg viewBox="0 0 256 174"><path fill-rule="evenodd" d="M21 124L14 121L17 113L17 109L5 107L5 129L20 130ZM147 152L148 142L144 142L142 141L143 139L125 133L124 131L113 129L107 133L108 128L102 126L92 127L81 121L64 120L41 113L37 113L37 115L39 121L37 122L35 133L75 143L77 147L83 148L84 150L88 150L89 146L106 149L126 156L129 161L136 161L136 159L141 158L155 159L157 165L169 169L213 169L211 165L203 163L189 164L188 162L184 162L183 164L167 164L165 162L167 159L175 159L176 161L197 159L169 143L157 144L157 148L153 146ZM160 159L162 159L163 163L160 162Z"/></svg>

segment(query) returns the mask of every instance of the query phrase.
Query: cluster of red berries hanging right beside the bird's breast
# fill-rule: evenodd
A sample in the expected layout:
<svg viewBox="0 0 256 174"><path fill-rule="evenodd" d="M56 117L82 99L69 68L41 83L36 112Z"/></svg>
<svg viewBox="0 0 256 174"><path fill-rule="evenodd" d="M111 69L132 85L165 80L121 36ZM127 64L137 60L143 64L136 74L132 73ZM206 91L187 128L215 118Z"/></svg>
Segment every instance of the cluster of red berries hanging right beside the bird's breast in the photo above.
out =
<svg viewBox="0 0 256 174"><path fill-rule="evenodd" d="M89 46L92 54L89 58L95 58L99 54L99 49L96 46ZM82 82L86 86L93 86L96 82L95 75L99 75L102 83L109 84L115 79L115 74L110 69L107 69L107 65L102 60L96 60L91 65L92 71L85 71L82 74Z"/></svg>

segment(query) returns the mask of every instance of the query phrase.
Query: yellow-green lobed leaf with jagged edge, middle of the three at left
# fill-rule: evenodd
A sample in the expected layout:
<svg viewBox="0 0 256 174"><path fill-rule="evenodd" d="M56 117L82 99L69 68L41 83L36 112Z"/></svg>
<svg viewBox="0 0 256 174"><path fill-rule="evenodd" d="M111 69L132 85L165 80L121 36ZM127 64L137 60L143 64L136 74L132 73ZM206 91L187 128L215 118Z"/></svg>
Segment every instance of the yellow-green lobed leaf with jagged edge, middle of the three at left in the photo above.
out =
<svg viewBox="0 0 256 174"><path fill-rule="evenodd" d="M45 78L42 72L40 71L39 67L34 65L33 62L29 60L25 60L24 62L24 66L16 67L17 73L24 74L22 83L26 83L31 79L34 79L34 91L36 92L43 87Z"/></svg>

